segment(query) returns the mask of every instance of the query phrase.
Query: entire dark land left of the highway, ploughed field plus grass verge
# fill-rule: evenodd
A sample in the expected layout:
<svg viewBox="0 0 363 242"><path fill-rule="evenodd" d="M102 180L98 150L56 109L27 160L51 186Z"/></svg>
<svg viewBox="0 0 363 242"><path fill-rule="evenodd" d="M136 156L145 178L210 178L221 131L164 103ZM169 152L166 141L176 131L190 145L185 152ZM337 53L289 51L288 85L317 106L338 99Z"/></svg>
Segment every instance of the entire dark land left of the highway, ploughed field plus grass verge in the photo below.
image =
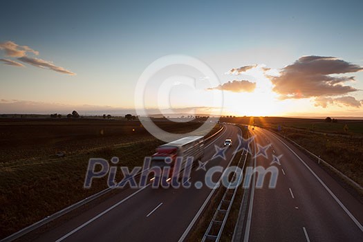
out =
<svg viewBox="0 0 363 242"><path fill-rule="evenodd" d="M158 126L185 133L201 124ZM136 121L0 120L0 134L0 238L106 188L105 177L84 189L89 158L117 156L118 165L134 167L163 143ZM65 156L55 156L57 151Z"/></svg>

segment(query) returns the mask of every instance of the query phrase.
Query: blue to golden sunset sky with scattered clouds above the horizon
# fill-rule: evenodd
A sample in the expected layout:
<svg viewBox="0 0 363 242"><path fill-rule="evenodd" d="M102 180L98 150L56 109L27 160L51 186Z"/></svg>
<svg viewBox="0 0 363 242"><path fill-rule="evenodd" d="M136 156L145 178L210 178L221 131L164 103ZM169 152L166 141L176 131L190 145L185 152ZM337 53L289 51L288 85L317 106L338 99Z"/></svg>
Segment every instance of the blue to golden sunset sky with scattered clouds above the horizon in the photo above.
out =
<svg viewBox="0 0 363 242"><path fill-rule="evenodd" d="M1 8L0 113L192 107L363 117L362 1L48 0ZM145 95L136 91L149 65L178 56L200 60L215 77L174 64L149 78Z"/></svg>

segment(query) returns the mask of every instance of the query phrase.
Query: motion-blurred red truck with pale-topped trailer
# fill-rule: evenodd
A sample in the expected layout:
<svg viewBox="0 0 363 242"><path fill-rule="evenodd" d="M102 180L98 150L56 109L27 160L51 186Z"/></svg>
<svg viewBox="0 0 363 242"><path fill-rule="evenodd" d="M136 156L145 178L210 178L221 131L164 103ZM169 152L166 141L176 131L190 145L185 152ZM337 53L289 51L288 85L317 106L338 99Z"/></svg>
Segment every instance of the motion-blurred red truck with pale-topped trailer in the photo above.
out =
<svg viewBox="0 0 363 242"><path fill-rule="evenodd" d="M151 156L150 167L162 167L169 166L170 174L173 174L174 164L177 157L183 157L181 171L185 168L185 162L187 158L193 157L193 165L201 160L204 156L204 137L203 136L188 136L185 138L180 138L179 140L174 140L165 145L160 145L156 148L156 153ZM171 158L171 164L165 163L166 158ZM180 171L180 172L181 172Z"/></svg>

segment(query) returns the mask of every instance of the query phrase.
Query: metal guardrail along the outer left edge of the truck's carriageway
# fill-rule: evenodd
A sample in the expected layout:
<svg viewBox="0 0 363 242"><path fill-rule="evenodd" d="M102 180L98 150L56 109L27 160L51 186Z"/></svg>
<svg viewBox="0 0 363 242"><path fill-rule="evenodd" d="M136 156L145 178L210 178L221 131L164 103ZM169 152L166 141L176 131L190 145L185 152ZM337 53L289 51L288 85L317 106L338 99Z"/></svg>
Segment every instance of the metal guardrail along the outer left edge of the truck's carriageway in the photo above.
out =
<svg viewBox="0 0 363 242"><path fill-rule="evenodd" d="M206 138L205 141L210 140L211 138L216 136L218 133L220 133L223 129L224 129L224 127L221 127L221 129L216 131L216 133L212 134L212 136L209 136L208 138ZM139 176L140 174L142 174L142 171L140 171L138 174L136 174L136 176ZM94 201L96 198L99 198L100 196L103 196L104 194L111 192L111 190L113 190L113 189L114 189L114 187L108 187L108 188L102 190L101 192L97 192L96 194L88 196L88 197L84 198L83 200L64 208L63 210L55 212L54 214L41 219L41 221L37 221L36 223L33 223L32 225L29 225L28 227L24 227L24 229L19 230L18 232L15 232L14 234L10 234L10 236L8 236L4 239L1 239L0 242L10 242L10 241L14 241L15 239L19 239L21 236L24 236L34 230L37 230L39 227L46 225L47 223L55 221L55 219L57 219L61 216L64 216L64 215L68 214L69 212L72 212L73 210L77 209L78 207L81 207L82 205L86 205L87 203Z"/></svg>

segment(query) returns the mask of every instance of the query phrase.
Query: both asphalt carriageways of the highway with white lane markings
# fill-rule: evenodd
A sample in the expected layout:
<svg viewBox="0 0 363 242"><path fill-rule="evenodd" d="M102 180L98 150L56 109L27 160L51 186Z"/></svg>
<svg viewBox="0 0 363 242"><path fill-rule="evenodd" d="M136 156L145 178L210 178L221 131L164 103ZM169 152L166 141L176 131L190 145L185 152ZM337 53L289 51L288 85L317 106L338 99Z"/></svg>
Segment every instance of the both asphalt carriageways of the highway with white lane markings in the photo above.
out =
<svg viewBox="0 0 363 242"><path fill-rule="evenodd" d="M256 127L252 165L277 167L274 189L250 185L236 241L363 241L363 206L332 176L280 136ZM205 144L206 168L227 167L241 130L233 125ZM232 138L226 159L213 158L214 145ZM252 152L252 157L254 153ZM275 156L275 161L272 162ZM277 161L276 158L279 158ZM217 174L220 176L220 174ZM218 176L214 180L218 180ZM122 189L115 196L41 234L35 241L183 241L212 189L194 184L205 171L193 169L189 189Z"/></svg>

